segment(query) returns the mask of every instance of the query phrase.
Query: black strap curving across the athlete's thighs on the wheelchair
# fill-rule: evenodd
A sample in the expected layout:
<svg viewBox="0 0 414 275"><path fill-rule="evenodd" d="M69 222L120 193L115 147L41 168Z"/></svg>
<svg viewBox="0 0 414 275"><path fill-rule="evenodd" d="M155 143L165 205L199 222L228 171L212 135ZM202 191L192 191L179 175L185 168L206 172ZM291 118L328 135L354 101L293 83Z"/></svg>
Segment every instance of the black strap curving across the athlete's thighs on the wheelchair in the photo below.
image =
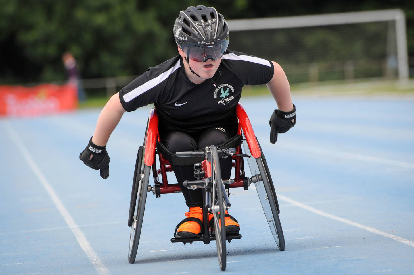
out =
<svg viewBox="0 0 414 275"><path fill-rule="evenodd" d="M217 145L217 147L224 149L224 148L237 148L242 142L242 137L240 135L233 136L231 139L220 143ZM168 151L167 147L160 143L156 143L156 148L158 153L161 153L161 155L166 158L170 164L172 165L191 165L195 163L201 163L205 158L204 157L183 157L183 156L177 156L175 153L172 153L171 151ZM204 149L195 150L195 152L202 152Z"/></svg>

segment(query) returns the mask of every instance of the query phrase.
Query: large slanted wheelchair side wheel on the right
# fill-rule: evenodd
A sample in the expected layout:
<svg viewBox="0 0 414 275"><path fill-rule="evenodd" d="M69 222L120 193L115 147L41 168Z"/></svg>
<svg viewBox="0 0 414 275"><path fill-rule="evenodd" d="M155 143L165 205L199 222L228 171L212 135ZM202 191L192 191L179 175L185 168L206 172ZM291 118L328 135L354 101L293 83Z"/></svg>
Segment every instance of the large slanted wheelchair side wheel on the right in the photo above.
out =
<svg viewBox="0 0 414 275"><path fill-rule="evenodd" d="M243 141L243 148L246 154L250 154L246 140ZM256 191L258 192L260 203L262 204L267 224L270 227L274 241L280 250L284 250L286 245L282 225L279 219L279 206L277 203L276 193L274 192L272 178L268 173L269 168L267 167L266 162L263 161L265 158L261 148L260 151L262 152L262 156L260 158L250 157L247 158L247 161L252 176L260 176L259 178L261 178L260 181L255 183Z"/></svg>

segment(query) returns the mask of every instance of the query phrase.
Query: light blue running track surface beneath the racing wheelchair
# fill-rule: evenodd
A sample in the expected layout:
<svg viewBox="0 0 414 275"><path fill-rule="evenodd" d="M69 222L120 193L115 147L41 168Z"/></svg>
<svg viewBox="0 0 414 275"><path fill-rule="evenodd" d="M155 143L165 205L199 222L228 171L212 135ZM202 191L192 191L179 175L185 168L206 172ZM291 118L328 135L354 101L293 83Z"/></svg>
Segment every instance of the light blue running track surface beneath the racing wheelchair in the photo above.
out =
<svg viewBox="0 0 414 275"><path fill-rule="evenodd" d="M298 123L274 145L274 100L242 100L270 166L286 250L254 187L231 189L243 238L227 243L224 272L414 274L414 98L293 97ZM79 160L99 112L0 118L0 274L224 274L215 242L170 242L188 211L181 194L149 193L128 263L130 189L149 108L125 113L111 136L106 180Z"/></svg>

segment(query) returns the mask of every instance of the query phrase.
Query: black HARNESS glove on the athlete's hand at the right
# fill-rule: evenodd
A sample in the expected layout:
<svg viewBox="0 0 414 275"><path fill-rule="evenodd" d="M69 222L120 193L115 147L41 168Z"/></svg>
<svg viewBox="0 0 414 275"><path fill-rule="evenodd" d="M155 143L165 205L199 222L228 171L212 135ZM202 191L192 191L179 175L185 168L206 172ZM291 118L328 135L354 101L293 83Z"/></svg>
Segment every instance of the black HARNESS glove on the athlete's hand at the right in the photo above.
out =
<svg viewBox="0 0 414 275"><path fill-rule="evenodd" d="M293 122L292 122L293 120ZM270 117L270 142L277 141L277 134L286 133L290 128L296 124L296 107L293 104L293 111L283 112L281 110L274 110Z"/></svg>

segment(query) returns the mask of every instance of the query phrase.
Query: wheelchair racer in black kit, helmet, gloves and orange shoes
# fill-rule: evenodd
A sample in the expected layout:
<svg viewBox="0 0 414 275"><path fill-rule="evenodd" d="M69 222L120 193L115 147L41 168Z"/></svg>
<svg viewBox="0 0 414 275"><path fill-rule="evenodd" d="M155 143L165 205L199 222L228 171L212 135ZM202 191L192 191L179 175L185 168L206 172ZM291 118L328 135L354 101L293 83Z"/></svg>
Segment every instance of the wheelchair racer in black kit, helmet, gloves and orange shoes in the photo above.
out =
<svg viewBox="0 0 414 275"><path fill-rule="evenodd" d="M270 117L270 142L296 123L296 109L283 69L270 60L229 50L229 27L213 7L182 10L173 28L178 55L137 77L106 103L95 132L79 158L109 175L106 143L123 113L154 104L161 143L172 153L220 144L236 135L236 105L244 85L266 84L279 110ZM231 158L221 159L223 179L231 174ZM202 190L183 187L195 180L193 165L172 165L189 211L174 237L202 234ZM209 214L209 221L213 214ZM208 222L208 221L207 221ZM225 230L238 233L237 220L225 213Z"/></svg>

